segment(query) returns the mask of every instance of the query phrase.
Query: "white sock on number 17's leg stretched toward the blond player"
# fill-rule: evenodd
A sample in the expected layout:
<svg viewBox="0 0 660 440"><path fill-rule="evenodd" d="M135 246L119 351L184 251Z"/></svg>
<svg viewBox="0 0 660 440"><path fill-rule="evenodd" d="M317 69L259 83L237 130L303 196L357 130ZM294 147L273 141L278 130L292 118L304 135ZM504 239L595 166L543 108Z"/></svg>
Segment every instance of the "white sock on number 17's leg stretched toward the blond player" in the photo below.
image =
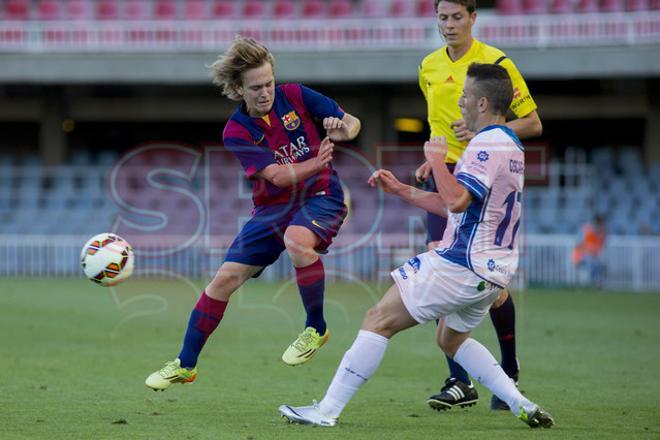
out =
<svg viewBox="0 0 660 440"><path fill-rule="evenodd" d="M319 403L321 412L339 417L353 395L376 372L385 355L389 339L379 334L360 330L353 345L344 354L337 373Z"/></svg>

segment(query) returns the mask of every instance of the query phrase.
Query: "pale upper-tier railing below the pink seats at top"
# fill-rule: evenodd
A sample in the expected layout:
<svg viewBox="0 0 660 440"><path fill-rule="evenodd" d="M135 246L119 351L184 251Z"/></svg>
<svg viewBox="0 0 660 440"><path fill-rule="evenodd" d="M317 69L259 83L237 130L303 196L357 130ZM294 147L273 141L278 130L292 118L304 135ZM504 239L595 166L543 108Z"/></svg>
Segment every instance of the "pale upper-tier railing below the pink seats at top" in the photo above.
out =
<svg viewBox="0 0 660 440"><path fill-rule="evenodd" d="M165 14L165 13L163 13ZM432 17L354 17L241 20L18 20L0 21L0 51L131 52L217 51L236 34L256 37L277 51L431 49L438 44ZM502 47L638 45L660 42L660 11L480 15L478 38Z"/></svg>

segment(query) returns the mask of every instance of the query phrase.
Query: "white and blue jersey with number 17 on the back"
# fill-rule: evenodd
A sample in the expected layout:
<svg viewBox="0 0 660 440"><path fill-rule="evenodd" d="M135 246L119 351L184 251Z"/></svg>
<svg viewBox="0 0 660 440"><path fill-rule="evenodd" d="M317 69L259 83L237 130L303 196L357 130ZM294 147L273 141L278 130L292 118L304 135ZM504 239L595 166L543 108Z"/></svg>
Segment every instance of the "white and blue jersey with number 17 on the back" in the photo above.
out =
<svg viewBox="0 0 660 440"><path fill-rule="evenodd" d="M447 229L435 252L505 287L518 268L523 146L510 128L488 126L470 141L454 176L473 200L465 212L448 213Z"/></svg>

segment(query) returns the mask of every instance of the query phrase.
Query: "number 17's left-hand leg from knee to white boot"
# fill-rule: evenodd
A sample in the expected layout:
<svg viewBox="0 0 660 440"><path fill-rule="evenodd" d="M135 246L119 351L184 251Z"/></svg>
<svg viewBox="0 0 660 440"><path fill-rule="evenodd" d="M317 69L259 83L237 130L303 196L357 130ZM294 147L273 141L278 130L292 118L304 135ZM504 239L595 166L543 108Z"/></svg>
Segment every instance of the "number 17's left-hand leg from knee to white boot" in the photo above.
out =
<svg viewBox="0 0 660 440"><path fill-rule="evenodd" d="M367 311L362 328L344 354L323 400L311 406L282 405L280 414L294 423L335 426L346 404L378 369L390 338L416 324L401 300L399 288L392 286Z"/></svg>

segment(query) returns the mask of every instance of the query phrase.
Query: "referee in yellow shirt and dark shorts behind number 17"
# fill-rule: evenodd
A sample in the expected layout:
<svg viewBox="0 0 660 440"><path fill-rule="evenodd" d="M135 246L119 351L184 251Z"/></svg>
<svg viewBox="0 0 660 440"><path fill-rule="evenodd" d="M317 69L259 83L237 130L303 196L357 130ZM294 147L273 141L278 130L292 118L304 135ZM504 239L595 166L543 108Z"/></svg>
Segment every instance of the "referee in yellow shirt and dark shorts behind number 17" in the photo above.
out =
<svg viewBox="0 0 660 440"><path fill-rule="evenodd" d="M431 137L447 138L449 151L446 162L449 170L453 172L465 146L475 135L467 129L458 108L458 99L463 91L467 68L471 63L499 64L509 73L514 87L511 112L516 118L506 125L520 139L539 136L542 125L536 113L536 103L513 62L501 50L488 46L472 36L472 26L477 19L476 0L434 1L438 29L447 44L424 58L419 68L419 86L426 98ZM426 182L428 190L435 191L433 179L429 179L430 172L428 163L424 163L417 169L415 175L419 181ZM434 248L435 242L442 239L446 225L446 218L428 214L429 249ZM500 343L502 368L509 377L518 382L515 308L506 290L491 307L490 317ZM427 403L437 410L474 405L479 396L467 372L449 357L447 361L450 377L445 381L440 393L429 397ZM493 396L491 409L509 408L497 396Z"/></svg>

